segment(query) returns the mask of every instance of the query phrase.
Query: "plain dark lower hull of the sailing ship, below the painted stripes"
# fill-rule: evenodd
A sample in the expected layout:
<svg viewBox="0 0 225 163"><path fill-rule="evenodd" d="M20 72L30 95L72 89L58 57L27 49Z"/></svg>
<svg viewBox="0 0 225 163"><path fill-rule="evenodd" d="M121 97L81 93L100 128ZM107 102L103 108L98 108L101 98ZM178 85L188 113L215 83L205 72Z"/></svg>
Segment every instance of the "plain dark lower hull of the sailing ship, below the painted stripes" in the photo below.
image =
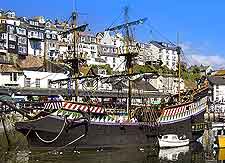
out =
<svg viewBox="0 0 225 163"><path fill-rule="evenodd" d="M59 116L46 116L35 121L17 122L16 129L27 136L28 143L32 147L62 147L81 135L86 135L80 140L70 144L76 148L116 148L122 146L158 146L158 135L176 134L186 135L190 140L197 139L191 131L193 121L202 122L203 112L196 117L190 117L183 121L150 125L149 123L104 123L74 121L70 127L66 127L61 135L52 143L44 143L38 135L45 139L54 139L64 124L64 118Z"/></svg>

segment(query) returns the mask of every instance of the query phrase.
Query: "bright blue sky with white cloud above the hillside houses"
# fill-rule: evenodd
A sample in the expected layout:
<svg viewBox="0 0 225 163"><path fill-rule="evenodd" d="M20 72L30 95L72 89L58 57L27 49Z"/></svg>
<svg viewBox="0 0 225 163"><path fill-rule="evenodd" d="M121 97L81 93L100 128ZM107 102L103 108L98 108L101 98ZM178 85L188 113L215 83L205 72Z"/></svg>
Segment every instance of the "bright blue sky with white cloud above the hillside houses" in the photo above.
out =
<svg viewBox="0 0 225 163"><path fill-rule="evenodd" d="M115 21L122 23L123 8L129 6L131 20L148 17L136 28L141 41L163 40L150 25L171 41L180 34L188 62L225 67L225 1L203 0L75 0L80 23L88 22L93 32L103 31ZM66 19L73 9L73 0L1 0L0 8L16 11L18 16L43 15ZM121 15L121 16L120 16ZM201 59L201 61L199 61Z"/></svg>

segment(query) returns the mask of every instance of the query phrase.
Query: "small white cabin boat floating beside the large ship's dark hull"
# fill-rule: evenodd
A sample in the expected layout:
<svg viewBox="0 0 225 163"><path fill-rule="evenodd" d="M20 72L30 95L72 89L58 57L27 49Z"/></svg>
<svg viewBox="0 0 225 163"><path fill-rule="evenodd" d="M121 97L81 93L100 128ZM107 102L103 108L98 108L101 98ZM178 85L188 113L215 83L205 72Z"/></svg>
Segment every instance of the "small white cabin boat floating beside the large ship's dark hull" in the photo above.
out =
<svg viewBox="0 0 225 163"><path fill-rule="evenodd" d="M189 144L189 139L186 139L185 136L178 138L178 136L174 134L163 135L162 138L158 138L158 140L160 148L181 147Z"/></svg>

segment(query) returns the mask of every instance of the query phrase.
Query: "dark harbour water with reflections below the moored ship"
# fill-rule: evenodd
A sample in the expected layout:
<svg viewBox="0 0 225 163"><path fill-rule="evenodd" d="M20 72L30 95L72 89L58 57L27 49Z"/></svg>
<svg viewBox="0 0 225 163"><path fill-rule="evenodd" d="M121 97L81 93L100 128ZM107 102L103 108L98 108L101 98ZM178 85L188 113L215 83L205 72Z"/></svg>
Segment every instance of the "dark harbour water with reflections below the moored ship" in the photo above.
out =
<svg viewBox="0 0 225 163"><path fill-rule="evenodd" d="M12 134L12 133L11 133ZM225 162L225 150L205 151L200 143L172 149L148 147L76 150L30 149L20 134L14 133L13 145L7 147L5 136L0 136L0 163L207 163Z"/></svg>

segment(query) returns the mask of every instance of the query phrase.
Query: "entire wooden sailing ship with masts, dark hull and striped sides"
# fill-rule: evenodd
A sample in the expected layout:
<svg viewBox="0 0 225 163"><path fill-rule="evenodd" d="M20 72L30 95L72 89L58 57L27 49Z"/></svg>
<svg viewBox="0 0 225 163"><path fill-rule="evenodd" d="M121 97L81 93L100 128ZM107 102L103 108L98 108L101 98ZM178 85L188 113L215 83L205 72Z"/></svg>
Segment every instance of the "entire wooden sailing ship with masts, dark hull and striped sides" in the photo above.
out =
<svg viewBox="0 0 225 163"><path fill-rule="evenodd" d="M126 22L107 30L125 28L129 35L128 27L141 24L145 20ZM74 28L73 32L78 27ZM131 44L129 39L129 37L126 38L128 46ZM179 47L177 51L180 53ZM125 57L128 75L125 76L132 75L132 59L135 55L138 54L129 52L127 48ZM78 57L75 54L74 58L74 65L78 68ZM78 73L77 70L75 73ZM75 74L73 79L77 81L79 78ZM27 137L28 143L32 147L158 146L157 137L159 135L176 134L178 137L185 135L192 141L202 135L202 132L193 133L192 125L202 123L204 120L204 112L207 107L206 87L197 90L191 100L160 109L151 109L148 106L132 106L132 82L128 80L128 83L128 109L123 115L116 111L109 112L103 106L90 103L55 101L46 105L49 108L57 105L57 109L33 119L29 117L29 120L16 122L16 130ZM76 88L78 87L76 86ZM78 91L76 91L77 96Z"/></svg>

